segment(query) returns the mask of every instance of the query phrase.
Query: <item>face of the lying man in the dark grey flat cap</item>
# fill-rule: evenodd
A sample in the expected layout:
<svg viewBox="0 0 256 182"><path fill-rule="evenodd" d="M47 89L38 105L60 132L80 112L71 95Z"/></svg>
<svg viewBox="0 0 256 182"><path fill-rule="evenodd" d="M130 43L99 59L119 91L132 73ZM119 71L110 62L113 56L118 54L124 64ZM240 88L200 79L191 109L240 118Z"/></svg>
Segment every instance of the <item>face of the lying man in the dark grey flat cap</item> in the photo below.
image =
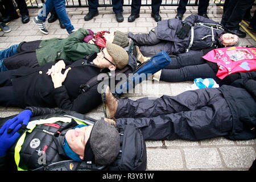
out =
<svg viewBox="0 0 256 182"><path fill-rule="evenodd" d="M65 134L65 139L73 152L84 159L85 144L90 137L90 132L93 126L76 127L75 129L68 130Z"/></svg>

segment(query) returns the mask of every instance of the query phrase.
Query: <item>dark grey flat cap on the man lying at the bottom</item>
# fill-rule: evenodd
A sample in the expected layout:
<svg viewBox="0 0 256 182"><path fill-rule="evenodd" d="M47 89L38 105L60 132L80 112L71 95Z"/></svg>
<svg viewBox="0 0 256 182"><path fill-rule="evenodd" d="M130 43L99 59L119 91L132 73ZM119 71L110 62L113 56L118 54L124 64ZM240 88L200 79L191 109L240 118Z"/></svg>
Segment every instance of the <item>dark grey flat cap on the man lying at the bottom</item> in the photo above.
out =
<svg viewBox="0 0 256 182"><path fill-rule="evenodd" d="M113 163L120 149L117 129L103 118L96 121L90 133L90 147L96 164L107 166Z"/></svg>

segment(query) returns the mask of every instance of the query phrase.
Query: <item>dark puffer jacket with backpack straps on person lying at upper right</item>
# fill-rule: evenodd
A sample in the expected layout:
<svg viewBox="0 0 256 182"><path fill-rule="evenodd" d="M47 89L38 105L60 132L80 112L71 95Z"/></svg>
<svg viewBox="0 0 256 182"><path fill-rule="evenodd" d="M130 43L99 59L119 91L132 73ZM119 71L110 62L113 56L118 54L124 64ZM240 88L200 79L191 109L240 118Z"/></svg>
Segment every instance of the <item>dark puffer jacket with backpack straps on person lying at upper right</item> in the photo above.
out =
<svg viewBox="0 0 256 182"><path fill-rule="evenodd" d="M185 23L189 24L189 26L194 26L194 39L191 50L201 50L212 46L213 43L218 44L218 37L220 36L220 34L222 34L222 32L224 32L223 30L213 29L213 42L211 28L201 26L195 23L219 23L196 14L189 15L187 18L184 19L183 22L176 18L160 21L158 22L158 33L156 37L161 40L168 40L174 42L174 55L184 53L189 46L191 31L189 32L189 36L185 37L184 39L180 39L176 35L177 31L179 31Z"/></svg>

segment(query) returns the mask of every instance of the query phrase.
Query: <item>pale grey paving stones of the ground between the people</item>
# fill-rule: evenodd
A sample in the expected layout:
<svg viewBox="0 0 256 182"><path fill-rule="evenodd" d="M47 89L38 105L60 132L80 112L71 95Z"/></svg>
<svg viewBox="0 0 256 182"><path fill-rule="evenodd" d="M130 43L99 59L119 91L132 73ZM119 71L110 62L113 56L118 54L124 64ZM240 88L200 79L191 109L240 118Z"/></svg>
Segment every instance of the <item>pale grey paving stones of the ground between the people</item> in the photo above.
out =
<svg viewBox="0 0 256 182"><path fill-rule="evenodd" d="M160 15L163 19L174 18L176 15L176 6L161 6ZM254 8L255 9L255 8ZM254 11L252 9L251 12ZM125 20L118 23L112 7L99 7L99 15L88 22L84 21L88 8L72 7L67 8L69 18L75 28L90 28L94 32L108 30L110 32L119 30L122 32L148 32L155 27L157 23L151 18L151 7L142 6L140 18L135 22L127 21L130 15L130 7L123 7L123 16ZM59 22L46 23L49 30L48 35L43 35L32 18L37 15L38 9L30 9L30 22L22 24L21 19L10 22L11 32L5 34L0 31L0 50L8 48L13 44L23 41L32 41L50 38L67 38L67 31L59 27ZM213 20L220 22L222 9L217 7L208 7L208 15ZM197 6L188 6L185 17L197 13ZM256 42L249 35L241 39L241 46L254 45ZM150 84L144 81L143 84ZM137 85L133 93L125 94L123 97L130 97L137 100L142 97L160 97L163 94L176 96L184 92L186 86L191 86L192 81L168 83L154 82L151 87L143 88L143 84ZM143 90L143 93L141 92ZM0 117L18 114L22 111L16 107L0 107ZM98 106L88 113L89 117L100 119L104 117L102 105ZM147 145L147 170L247 170L256 158L256 139L246 141L233 141L224 137L217 137L198 142L187 140L164 140L164 141L146 141Z"/></svg>

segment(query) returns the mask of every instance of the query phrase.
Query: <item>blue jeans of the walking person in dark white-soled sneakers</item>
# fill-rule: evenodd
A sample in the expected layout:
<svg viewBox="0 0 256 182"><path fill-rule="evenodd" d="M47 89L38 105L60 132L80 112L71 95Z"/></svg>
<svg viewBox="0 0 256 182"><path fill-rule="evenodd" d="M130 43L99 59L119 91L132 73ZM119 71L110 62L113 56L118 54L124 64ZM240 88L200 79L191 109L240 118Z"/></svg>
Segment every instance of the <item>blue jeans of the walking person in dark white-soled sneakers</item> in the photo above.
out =
<svg viewBox="0 0 256 182"><path fill-rule="evenodd" d="M38 15L38 19L42 22L46 22L47 16L52 11L53 7L55 7L56 13L61 22L64 24L66 30L68 32L74 30L74 27L68 18L68 14L65 8L65 0L47 0L43 6L43 9Z"/></svg>

